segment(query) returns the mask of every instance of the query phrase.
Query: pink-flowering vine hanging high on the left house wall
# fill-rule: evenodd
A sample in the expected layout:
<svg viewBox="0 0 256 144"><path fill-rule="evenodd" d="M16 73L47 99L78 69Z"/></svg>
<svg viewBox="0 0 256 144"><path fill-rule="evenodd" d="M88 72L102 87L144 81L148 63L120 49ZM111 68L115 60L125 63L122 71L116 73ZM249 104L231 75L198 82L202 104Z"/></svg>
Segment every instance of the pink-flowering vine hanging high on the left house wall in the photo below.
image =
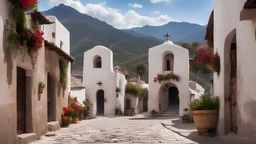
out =
<svg viewBox="0 0 256 144"><path fill-rule="evenodd" d="M43 32L40 31L35 22L30 22L31 28L27 28L26 11L37 9L38 0L9 0L12 3L12 21L8 33L8 47L14 49L15 53L19 45L28 47L28 54L31 57L34 68L37 62L38 50L44 41Z"/></svg>

